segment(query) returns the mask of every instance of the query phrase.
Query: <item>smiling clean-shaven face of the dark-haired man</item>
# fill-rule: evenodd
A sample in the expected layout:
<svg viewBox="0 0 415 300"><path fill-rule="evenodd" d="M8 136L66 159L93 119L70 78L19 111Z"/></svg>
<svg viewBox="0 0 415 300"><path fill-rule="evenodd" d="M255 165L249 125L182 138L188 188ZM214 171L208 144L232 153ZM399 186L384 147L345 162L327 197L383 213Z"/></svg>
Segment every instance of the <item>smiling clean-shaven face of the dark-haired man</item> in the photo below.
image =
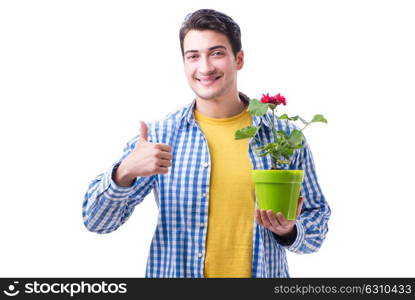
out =
<svg viewBox="0 0 415 300"><path fill-rule="evenodd" d="M235 58L228 38L213 30L190 30L183 41L184 71L190 88L201 99L218 99L237 92L236 75L243 51Z"/></svg>

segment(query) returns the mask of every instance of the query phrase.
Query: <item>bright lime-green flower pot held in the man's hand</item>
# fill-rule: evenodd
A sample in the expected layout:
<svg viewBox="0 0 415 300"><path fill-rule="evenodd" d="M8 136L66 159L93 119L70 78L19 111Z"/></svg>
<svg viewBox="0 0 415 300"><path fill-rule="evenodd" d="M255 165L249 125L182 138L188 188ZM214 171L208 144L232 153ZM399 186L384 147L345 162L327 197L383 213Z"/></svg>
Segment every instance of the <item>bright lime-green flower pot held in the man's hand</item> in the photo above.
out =
<svg viewBox="0 0 415 300"><path fill-rule="evenodd" d="M282 212L287 220L297 218L303 170L252 170L259 209Z"/></svg>

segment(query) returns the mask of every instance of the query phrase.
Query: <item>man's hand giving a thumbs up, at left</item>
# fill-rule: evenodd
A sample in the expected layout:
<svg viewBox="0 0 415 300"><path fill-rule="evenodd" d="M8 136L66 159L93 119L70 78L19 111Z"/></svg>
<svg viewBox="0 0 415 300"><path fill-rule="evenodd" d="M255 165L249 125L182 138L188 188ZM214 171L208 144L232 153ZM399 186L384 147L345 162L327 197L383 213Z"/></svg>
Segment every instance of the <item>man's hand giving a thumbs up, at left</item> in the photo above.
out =
<svg viewBox="0 0 415 300"><path fill-rule="evenodd" d="M166 144L150 143L148 127L140 121L140 136L133 152L120 164L114 174L117 185L131 186L138 176L167 174L172 163L172 149Z"/></svg>

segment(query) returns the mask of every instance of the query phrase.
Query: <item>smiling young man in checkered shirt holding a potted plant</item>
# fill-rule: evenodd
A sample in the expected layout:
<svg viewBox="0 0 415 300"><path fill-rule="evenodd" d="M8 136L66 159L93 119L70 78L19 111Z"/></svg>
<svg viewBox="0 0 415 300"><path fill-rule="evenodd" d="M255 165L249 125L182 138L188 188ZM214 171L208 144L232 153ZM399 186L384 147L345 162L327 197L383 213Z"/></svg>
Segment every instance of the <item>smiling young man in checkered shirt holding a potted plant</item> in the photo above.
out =
<svg viewBox="0 0 415 300"><path fill-rule="evenodd" d="M163 120L141 122L123 156L90 184L85 226L116 230L153 190L159 215L146 277L289 277L286 249L317 251L330 216L310 149L305 142L288 166L305 170L297 220L256 209L251 170L269 169L271 161L254 154L254 139L235 140L234 133L263 123L260 135L271 135L237 89L239 26L223 13L198 10L186 17L180 45L196 98Z"/></svg>

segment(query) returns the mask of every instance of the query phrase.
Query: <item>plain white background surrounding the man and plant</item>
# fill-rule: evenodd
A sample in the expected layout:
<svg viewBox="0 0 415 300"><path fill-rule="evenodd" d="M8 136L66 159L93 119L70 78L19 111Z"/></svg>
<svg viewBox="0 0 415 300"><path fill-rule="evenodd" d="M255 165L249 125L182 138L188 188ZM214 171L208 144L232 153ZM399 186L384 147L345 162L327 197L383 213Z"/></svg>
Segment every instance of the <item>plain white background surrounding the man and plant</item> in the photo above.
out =
<svg viewBox="0 0 415 300"><path fill-rule="evenodd" d="M214 8L242 29L239 89L324 114L305 134L332 209L293 277L415 276L413 1L1 1L0 276L143 277L153 195L88 232L89 182L139 120L190 103L178 31Z"/></svg>

